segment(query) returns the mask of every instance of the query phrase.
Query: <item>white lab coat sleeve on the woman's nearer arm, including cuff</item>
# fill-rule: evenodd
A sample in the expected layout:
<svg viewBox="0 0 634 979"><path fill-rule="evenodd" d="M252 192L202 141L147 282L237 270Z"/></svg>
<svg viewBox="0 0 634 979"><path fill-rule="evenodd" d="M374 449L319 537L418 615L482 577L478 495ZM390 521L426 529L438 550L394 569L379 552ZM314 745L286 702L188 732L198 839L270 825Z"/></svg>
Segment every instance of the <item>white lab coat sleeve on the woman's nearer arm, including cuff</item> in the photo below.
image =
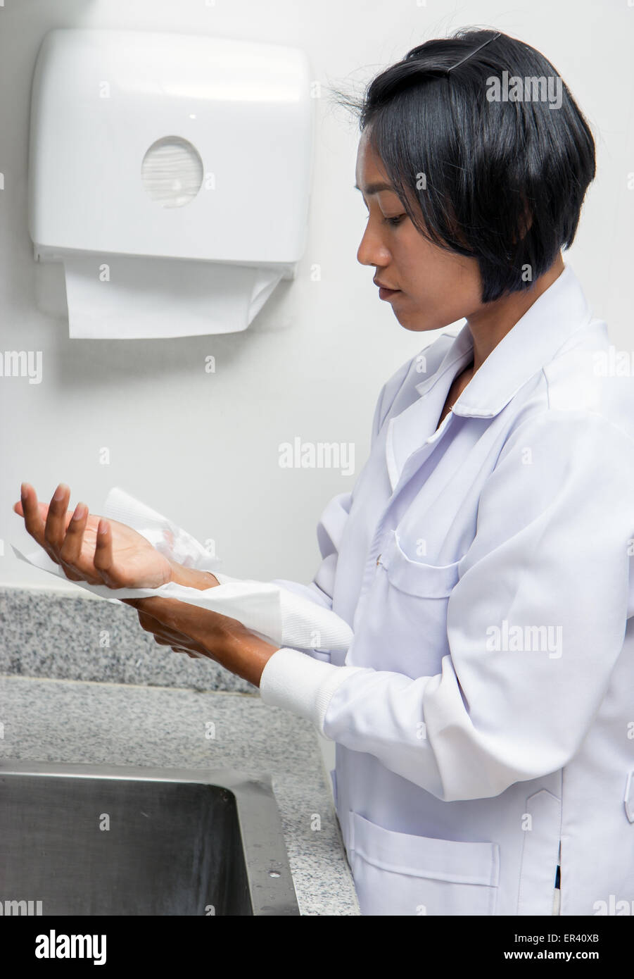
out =
<svg viewBox="0 0 634 979"><path fill-rule="evenodd" d="M447 802L561 769L599 709L634 611L633 537L634 442L587 411L532 416L480 493L440 672L411 678L280 650L262 699Z"/></svg>

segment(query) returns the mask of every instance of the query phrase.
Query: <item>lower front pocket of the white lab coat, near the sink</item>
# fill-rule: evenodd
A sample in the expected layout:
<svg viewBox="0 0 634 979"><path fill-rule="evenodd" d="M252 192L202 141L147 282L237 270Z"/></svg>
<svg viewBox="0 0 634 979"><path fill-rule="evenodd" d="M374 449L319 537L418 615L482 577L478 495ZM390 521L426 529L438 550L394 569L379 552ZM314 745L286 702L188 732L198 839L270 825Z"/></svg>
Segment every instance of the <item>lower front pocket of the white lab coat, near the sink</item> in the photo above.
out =
<svg viewBox="0 0 634 979"><path fill-rule="evenodd" d="M362 914L495 913L500 848L396 833L348 814L348 851Z"/></svg>

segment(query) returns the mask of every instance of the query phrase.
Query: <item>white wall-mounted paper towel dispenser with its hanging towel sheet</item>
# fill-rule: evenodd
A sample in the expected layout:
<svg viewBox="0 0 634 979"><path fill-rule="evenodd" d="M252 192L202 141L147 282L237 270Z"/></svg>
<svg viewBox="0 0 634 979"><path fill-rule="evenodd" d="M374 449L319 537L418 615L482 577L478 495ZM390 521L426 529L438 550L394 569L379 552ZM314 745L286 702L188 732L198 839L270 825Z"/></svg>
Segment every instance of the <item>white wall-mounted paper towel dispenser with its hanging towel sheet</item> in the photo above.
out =
<svg viewBox="0 0 634 979"><path fill-rule="evenodd" d="M71 337L244 330L307 230L305 54L210 36L56 28L33 76L34 257L61 261Z"/></svg>

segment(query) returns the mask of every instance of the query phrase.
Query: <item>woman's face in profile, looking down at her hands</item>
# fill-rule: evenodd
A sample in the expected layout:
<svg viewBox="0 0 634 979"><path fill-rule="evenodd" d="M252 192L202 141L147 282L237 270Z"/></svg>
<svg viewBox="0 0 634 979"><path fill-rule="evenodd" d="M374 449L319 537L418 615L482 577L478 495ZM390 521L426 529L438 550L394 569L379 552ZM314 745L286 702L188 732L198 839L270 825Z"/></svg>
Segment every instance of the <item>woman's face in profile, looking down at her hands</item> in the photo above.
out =
<svg viewBox="0 0 634 979"><path fill-rule="evenodd" d="M357 258L376 267L375 280L398 290L386 297L406 330L438 330L482 309L475 258L443 251L414 227L389 185L366 128L359 142L356 184L368 208ZM379 186L376 186L379 185Z"/></svg>

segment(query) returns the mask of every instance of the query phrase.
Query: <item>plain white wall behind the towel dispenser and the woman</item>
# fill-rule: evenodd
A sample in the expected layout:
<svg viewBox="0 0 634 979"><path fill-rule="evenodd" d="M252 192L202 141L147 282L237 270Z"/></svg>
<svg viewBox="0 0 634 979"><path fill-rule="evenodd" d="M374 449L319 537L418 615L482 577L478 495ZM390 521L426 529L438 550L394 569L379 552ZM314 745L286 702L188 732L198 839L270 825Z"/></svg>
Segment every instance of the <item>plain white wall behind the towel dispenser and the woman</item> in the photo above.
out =
<svg viewBox="0 0 634 979"><path fill-rule="evenodd" d="M567 257L596 312L608 319L613 342L634 349L634 191L627 189L634 170L634 6L628 0L216 0L210 6L204 0L5 0L0 349L41 350L43 380L0 379L0 584L54 582L17 561L8 545L20 523L11 507L23 480L47 500L65 481L71 503L82 499L93 511L108 489L120 486L195 536L213 537L227 573L310 581L319 560L319 513L355 477L280 469L278 444L296 436L354 443L358 474L383 382L430 340L399 326L378 299L374 269L356 261L365 222L361 196L352 189L358 133L328 101L326 87L358 87L410 47L470 24L539 48L589 118L599 176ZM296 280L278 287L246 333L68 339L62 268L34 263L26 223L30 79L39 43L54 26L215 33L307 52L325 96L316 106L308 245ZM321 265L319 282L310 278L313 263ZM204 371L210 353L215 374ZM102 446L110 448L108 466L99 461Z"/></svg>

